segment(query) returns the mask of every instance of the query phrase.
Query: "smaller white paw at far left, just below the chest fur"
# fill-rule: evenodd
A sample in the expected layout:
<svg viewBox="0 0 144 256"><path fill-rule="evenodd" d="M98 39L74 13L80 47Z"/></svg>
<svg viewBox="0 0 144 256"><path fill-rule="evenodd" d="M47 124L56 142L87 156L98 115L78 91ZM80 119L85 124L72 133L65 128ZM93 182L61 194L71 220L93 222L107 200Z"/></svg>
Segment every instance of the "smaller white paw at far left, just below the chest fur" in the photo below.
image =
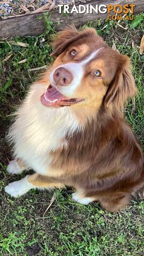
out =
<svg viewBox="0 0 144 256"><path fill-rule="evenodd" d="M20 174L24 170L28 169L21 159L14 159L7 165L7 172L12 174Z"/></svg>

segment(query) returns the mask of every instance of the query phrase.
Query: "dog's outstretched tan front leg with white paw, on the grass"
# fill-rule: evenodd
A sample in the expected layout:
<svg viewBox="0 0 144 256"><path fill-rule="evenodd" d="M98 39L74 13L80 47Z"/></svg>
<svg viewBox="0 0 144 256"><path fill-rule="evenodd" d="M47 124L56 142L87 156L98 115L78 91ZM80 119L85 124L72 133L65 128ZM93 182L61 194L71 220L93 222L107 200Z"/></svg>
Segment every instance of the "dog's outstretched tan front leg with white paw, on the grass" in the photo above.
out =
<svg viewBox="0 0 144 256"><path fill-rule="evenodd" d="M25 178L9 183L5 192L13 197L26 194L31 188L63 188L65 185L57 178L43 176L41 174L27 175Z"/></svg>

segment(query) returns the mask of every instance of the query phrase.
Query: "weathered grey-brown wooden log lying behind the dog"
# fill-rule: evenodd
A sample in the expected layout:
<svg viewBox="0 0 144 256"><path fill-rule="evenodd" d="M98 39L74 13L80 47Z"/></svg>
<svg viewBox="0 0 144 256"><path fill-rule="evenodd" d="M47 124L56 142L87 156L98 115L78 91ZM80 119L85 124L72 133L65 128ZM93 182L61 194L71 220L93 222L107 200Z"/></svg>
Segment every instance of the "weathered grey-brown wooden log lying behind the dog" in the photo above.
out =
<svg viewBox="0 0 144 256"><path fill-rule="evenodd" d="M117 0L111 1L106 0L103 1L105 5L107 4L135 4L134 14L138 14L143 12L144 10L144 0L130 0L126 2L125 0ZM100 5L102 4L101 0L94 0L89 3L85 3L84 5ZM70 8L72 8L71 6ZM51 15L50 15L51 14ZM82 26L89 21L94 21L95 19L106 19L108 17L108 13L101 14L95 13L93 11L92 14L68 14L62 15L59 13L59 9L53 10L47 14L47 17L50 15L50 20L54 22L55 29L60 30L64 27L67 27L71 23L74 23L76 27ZM40 18L40 19L39 19ZM37 14L28 14L24 16L20 16L17 18L9 18L6 20L0 20L0 37L2 38L11 38L13 36L37 36L42 34L45 30L45 22L44 22L44 13Z"/></svg>

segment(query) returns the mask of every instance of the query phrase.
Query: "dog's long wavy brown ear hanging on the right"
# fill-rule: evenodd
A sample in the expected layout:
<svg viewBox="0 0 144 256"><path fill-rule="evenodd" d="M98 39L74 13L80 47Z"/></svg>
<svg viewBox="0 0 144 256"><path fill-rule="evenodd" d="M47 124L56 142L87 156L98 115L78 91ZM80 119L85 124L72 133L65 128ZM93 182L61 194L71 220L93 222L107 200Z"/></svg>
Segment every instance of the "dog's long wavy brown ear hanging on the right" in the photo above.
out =
<svg viewBox="0 0 144 256"><path fill-rule="evenodd" d="M117 109L124 109L127 99L134 98L137 93L137 87L131 73L130 59L121 54L117 57L119 64L104 98L104 106L108 107L112 104Z"/></svg>

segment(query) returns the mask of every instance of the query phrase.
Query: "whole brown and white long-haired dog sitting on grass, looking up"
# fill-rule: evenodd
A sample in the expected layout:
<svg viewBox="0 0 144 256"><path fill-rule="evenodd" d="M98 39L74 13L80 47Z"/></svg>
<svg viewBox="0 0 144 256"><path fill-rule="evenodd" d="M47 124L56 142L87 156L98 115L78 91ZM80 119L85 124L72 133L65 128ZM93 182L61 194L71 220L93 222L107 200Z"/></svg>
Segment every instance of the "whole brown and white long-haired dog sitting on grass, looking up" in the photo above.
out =
<svg viewBox="0 0 144 256"><path fill-rule="evenodd" d="M137 92L129 58L92 28L70 27L53 46L55 61L30 87L9 134L8 172L36 173L5 191L71 186L75 201L118 211L144 186L142 150L120 111Z"/></svg>

